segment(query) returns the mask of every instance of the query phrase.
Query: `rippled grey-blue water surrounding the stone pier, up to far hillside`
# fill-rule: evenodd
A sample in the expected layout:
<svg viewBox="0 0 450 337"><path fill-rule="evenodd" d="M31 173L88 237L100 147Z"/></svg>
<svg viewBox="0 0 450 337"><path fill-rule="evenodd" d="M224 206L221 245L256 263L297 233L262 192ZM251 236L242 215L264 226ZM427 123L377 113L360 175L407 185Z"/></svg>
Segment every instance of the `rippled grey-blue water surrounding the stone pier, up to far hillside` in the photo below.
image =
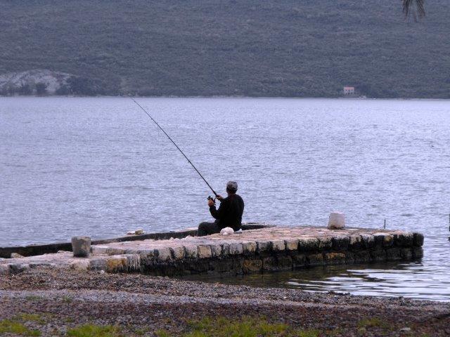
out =
<svg viewBox="0 0 450 337"><path fill-rule="evenodd" d="M233 282L450 300L450 101L140 98L245 221L425 234L420 263ZM129 98L0 98L0 246L176 230L210 194Z"/></svg>

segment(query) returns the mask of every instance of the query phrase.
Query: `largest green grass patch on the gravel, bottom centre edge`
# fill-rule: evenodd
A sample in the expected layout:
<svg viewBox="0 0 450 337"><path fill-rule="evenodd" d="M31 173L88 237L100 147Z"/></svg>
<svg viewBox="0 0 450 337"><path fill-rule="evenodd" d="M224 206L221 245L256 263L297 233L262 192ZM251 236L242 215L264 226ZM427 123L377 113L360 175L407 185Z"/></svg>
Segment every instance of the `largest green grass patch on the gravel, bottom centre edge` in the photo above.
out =
<svg viewBox="0 0 450 337"><path fill-rule="evenodd" d="M225 317L206 317L200 321L189 322L190 332L184 337L319 337L318 330L293 329L287 324L271 323L264 318L244 317L227 319ZM157 331L158 337L169 337L167 331Z"/></svg>

